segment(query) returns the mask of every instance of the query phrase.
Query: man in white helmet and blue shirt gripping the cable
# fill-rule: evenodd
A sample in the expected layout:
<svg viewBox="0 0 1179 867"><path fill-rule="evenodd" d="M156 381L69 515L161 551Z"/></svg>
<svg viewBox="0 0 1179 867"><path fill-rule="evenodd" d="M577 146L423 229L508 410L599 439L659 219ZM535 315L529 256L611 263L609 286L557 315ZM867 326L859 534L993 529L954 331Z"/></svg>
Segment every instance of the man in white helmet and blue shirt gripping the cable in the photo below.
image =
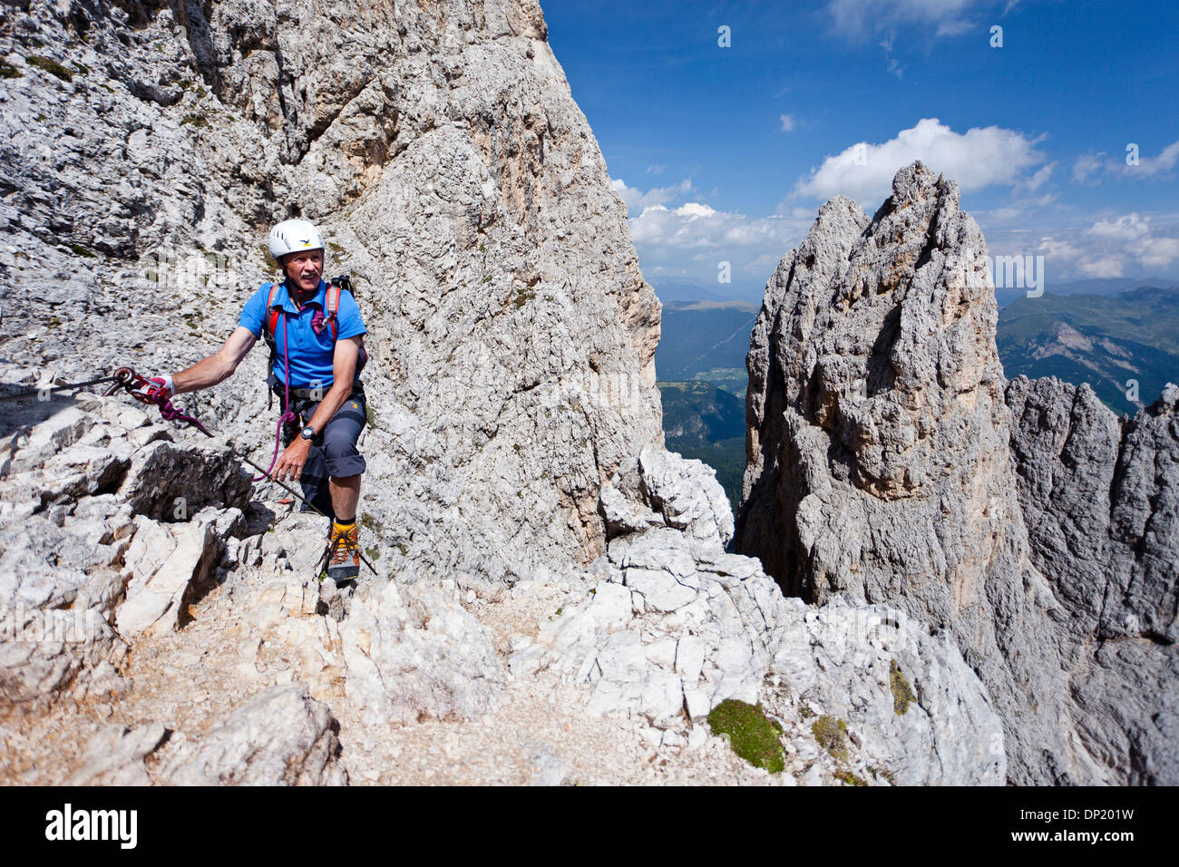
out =
<svg viewBox="0 0 1179 867"><path fill-rule="evenodd" d="M308 501L332 518L327 571L342 584L360 573L356 508L365 465L356 440L365 422L358 379L364 322L347 281L323 281L323 238L311 223L279 223L270 230L269 247L285 280L264 283L250 297L237 328L213 355L174 376L153 376L152 394L171 398L216 386L233 375L265 334L271 347L268 385L283 401L285 449L274 477L299 479Z"/></svg>

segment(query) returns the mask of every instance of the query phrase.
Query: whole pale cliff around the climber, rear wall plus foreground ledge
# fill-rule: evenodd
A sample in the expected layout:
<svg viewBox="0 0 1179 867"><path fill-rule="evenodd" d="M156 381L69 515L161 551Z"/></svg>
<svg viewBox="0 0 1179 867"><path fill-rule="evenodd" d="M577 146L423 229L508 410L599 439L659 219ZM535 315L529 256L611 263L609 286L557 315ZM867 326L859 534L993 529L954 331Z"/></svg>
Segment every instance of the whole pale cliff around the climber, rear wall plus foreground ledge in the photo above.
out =
<svg viewBox="0 0 1179 867"><path fill-rule="evenodd" d="M11 8L0 779L1002 782L948 632L784 597L661 448L659 304L534 2ZM209 354L295 215L370 333L354 589L237 458L269 457L262 353L180 401L215 440L14 388Z"/></svg>

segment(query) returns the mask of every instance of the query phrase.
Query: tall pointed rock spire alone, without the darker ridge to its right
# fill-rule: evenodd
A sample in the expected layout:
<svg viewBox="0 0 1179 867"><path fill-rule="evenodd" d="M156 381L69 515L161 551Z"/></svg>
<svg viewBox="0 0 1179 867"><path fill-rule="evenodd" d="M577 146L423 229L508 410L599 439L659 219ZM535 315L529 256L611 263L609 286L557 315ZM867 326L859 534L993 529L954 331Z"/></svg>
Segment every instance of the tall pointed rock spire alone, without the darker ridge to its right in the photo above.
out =
<svg viewBox="0 0 1179 867"><path fill-rule="evenodd" d="M950 630L1013 779L1053 782L1069 767L1063 678L1042 659L1059 604L1029 560L986 245L957 202L916 163L871 219L828 202L778 265L750 340L736 545L788 592Z"/></svg>

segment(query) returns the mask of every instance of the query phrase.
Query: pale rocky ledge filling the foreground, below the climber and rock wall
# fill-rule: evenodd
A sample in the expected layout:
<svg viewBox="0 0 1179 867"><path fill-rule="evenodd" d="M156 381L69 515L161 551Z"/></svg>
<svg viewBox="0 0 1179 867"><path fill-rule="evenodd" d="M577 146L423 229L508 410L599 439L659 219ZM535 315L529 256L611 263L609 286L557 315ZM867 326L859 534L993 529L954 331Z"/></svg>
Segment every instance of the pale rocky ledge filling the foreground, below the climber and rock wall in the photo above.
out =
<svg viewBox="0 0 1179 867"><path fill-rule="evenodd" d="M999 784L997 715L949 636L783 597L726 554L711 471L661 449L598 501L608 550L512 587L314 574L320 519L251 499L223 440L118 398L11 400L0 478L7 782ZM162 492L198 510L158 514ZM160 518L169 518L162 520ZM710 714L757 704L780 769Z"/></svg>

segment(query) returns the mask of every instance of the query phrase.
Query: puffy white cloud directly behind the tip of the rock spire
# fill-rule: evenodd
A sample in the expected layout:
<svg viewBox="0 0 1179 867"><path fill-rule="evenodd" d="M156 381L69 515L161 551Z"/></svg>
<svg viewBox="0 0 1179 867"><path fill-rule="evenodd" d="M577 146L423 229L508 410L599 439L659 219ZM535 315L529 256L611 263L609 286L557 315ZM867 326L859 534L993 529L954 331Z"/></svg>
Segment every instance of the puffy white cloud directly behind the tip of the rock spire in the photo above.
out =
<svg viewBox="0 0 1179 867"><path fill-rule="evenodd" d="M963 192L996 184L1027 185L1043 171L1023 176L1045 159L1035 150L1039 142L999 126L957 133L937 118L924 118L883 144L859 143L828 157L810 177L799 178L795 193L821 199L844 195L874 210L891 192L897 170L915 159L957 180Z"/></svg>

